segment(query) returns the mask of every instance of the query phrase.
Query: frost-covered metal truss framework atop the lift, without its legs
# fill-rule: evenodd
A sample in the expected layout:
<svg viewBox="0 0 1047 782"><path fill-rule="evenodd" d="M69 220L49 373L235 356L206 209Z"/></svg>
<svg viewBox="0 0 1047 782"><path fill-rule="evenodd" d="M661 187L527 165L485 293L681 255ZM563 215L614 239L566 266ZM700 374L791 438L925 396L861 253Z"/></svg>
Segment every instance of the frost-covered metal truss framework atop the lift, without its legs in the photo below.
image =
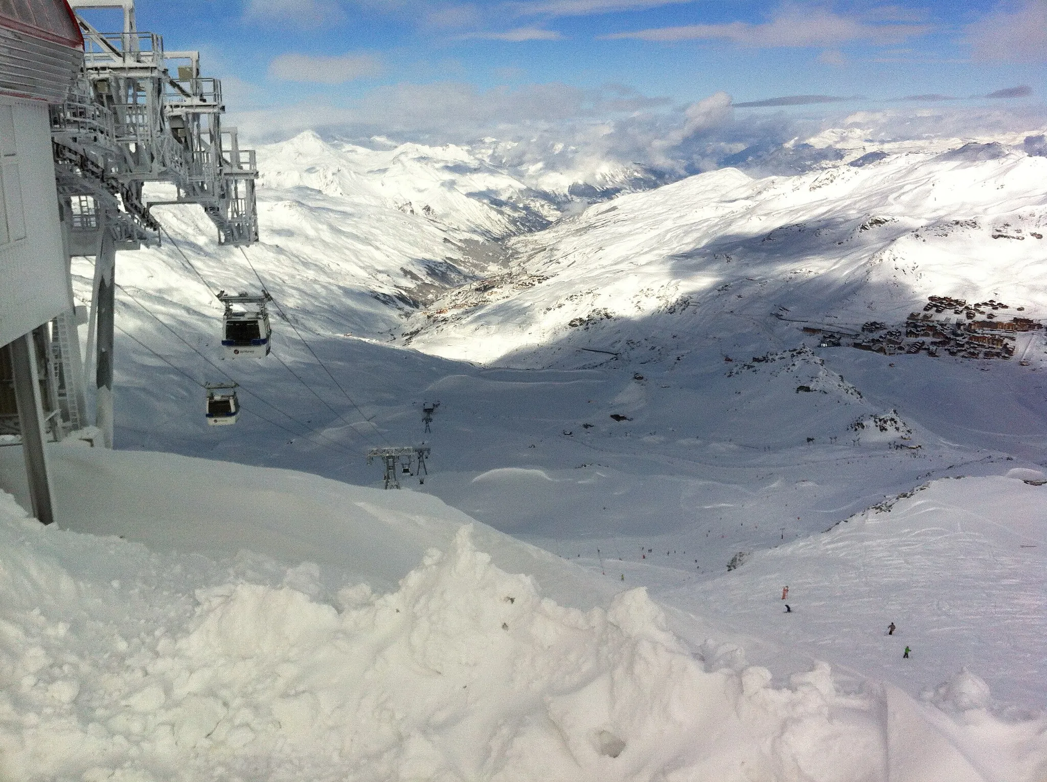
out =
<svg viewBox="0 0 1047 782"><path fill-rule="evenodd" d="M118 200L125 242L159 241L149 208L200 204L221 244L258 241L253 150L223 128L222 85L200 73L196 51L164 51L163 39L135 28L133 0L72 0L73 8L122 8L120 32L102 32L77 16L84 70L66 103L51 111L59 189L64 196ZM146 203L144 182L171 182L174 201ZM105 201L105 199L101 199ZM112 203L104 204L107 217ZM132 228L129 223L136 227Z"/></svg>

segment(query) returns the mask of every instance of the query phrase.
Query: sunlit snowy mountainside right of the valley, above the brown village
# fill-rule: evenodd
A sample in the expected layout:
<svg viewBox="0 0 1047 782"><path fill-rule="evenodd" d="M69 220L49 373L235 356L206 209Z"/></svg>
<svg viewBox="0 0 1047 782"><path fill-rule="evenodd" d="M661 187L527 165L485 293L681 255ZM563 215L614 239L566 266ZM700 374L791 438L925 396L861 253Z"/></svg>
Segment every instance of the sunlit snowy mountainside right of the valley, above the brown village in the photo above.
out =
<svg viewBox="0 0 1047 782"><path fill-rule="evenodd" d="M929 295L997 298L1042 317L1047 158L1000 150L755 180L721 170L623 196L515 240L503 285L437 301L406 338L447 357L533 366L560 344L630 352L633 331L684 332L693 350L695 335L709 344L755 319L795 340L784 329L799 327L772 314L841 329L900 322ZM659 343L685 350L671 336Z"/></svg>

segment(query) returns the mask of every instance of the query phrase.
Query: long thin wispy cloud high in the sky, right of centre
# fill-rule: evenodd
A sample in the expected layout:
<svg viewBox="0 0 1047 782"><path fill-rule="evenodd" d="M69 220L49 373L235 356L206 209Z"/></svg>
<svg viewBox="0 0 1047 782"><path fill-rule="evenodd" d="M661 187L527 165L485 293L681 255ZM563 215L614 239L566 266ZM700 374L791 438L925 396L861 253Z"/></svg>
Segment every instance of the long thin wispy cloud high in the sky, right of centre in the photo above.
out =
<svg viewBox="0 0 1047 782"><path fill-rule="evenodd" d="M633 38L642 41L719 40L756 48L792 46L836 46L853 41L895 43L919 36L930 27L918 24L872 24L844 17L825 8L785 6L763 24L728 22L658 27L632 32L616 32L606 39Z"/></svg>

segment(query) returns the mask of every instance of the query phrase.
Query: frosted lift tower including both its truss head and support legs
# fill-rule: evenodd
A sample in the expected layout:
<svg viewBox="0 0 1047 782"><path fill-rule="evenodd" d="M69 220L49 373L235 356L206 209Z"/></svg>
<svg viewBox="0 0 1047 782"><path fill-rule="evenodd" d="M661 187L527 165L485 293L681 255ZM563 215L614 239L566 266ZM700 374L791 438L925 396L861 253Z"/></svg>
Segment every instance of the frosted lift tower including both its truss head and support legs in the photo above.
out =
<svg viewBox="0 0 1047 782"><path fill-rule="evenodd" d="M197 51L166 51L163 39L135 24L135 0L69 0L84 38L84 67L66 100L52 106L51 140L66 252L93 255L94 286L87 362L94 354L96 425L112 447L113 311L116 250L160 243L151 214L158 204L200 204L219 244L258 241L254 152L240 149L237 129L222 126L222 85L204 76ZM105 32L83 12L118 9L124 27ZM147 201L147 182L169 182L175 198ZM55 318L52 331L75 335L75 316ZM62 426L87 424L76 339L52 350L60 389L74 400ZM74 405L75 406L75 405Z"/></svg>

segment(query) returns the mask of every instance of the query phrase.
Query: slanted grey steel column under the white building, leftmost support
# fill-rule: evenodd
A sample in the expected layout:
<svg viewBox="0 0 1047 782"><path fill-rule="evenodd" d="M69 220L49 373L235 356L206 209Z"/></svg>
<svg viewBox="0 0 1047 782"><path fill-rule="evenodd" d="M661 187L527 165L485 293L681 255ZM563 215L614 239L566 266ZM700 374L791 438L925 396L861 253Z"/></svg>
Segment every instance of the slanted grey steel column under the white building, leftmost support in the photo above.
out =
<svg viewBox="0 0 1047 782"><path fill-rule="evenodd" d="M32 515L43 523L54 520L54 500L47 472L47 451L44 448L44 411L40 398L40 373L32 334L19 337L8 345L15 376L15 400L22 429L22 455L29 478Z"/></svg>

